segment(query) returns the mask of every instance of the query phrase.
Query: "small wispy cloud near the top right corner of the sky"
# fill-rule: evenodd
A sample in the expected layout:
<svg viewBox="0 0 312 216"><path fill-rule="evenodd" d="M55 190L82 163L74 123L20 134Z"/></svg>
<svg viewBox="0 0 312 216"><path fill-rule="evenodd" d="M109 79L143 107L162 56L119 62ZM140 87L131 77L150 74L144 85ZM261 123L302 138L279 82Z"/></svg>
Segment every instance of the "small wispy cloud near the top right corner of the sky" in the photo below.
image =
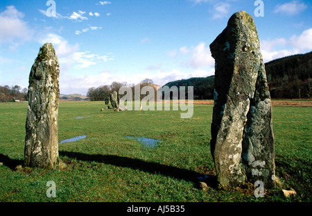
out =
<svg viewBox="0 0 312 216"><path fill-rule="evenodd" d="M275 13L281 13L284 15L292 16L297 15L298 13L306 10L308 6L305 3L300 1L290 1L288 3L282 3L275 6Z"/></svg>

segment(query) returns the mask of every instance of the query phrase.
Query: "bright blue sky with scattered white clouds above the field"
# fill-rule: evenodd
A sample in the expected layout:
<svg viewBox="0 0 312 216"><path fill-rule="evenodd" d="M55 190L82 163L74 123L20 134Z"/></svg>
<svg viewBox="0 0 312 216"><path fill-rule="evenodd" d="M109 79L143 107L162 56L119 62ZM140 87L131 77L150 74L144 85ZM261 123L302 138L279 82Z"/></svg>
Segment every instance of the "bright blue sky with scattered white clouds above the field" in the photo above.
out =
<svg viewBox="0 0 312 216"><path fill-rule="evenodd" d="M229 17L245 10L256 23L265 62L312 50L312 2L263 0L0 1L0 85L28 87L40 47L51 42L60 93L86 94L113 81L164 85L214 74L209 44Z"/></svg>

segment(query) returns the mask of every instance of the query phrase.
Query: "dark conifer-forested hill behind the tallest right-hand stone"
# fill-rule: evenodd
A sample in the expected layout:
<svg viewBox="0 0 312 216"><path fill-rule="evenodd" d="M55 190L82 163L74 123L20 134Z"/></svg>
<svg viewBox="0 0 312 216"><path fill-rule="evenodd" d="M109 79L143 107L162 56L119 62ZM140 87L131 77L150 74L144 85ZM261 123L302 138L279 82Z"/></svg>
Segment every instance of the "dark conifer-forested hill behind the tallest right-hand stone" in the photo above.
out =
<svg viewBox="0 0 312 216"><path fill-rule="evenodd" d="M312 52L279 58L266 63L268 85L273 99L297 99L311 97ZM189 78L166 84L193 86L194 99L214 99L214 76Z"/></svg>

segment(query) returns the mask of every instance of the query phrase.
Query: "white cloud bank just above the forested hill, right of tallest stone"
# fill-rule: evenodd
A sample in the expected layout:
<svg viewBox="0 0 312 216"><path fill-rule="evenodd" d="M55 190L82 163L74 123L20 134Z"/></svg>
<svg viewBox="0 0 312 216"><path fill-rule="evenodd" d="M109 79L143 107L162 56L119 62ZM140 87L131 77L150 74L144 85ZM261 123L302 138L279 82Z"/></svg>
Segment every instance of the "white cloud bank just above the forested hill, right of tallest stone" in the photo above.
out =
<svg viewBox="0 0 312 216"><path fill-rule="evenodd" d="M293 35L290 39L261 40L261 53L265 63L276 58L306 53L312 50L312 28L301 35Z"/></svg>

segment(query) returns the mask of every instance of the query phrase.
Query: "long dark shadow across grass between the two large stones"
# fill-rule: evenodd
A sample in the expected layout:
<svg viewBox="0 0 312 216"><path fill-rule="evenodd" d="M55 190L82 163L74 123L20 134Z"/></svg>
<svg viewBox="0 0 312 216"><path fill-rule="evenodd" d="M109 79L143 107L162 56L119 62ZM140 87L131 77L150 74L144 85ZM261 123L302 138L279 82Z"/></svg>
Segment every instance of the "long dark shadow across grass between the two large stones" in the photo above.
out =
<svg viewBox="0 0 312 216"><path fill-rule="evenodd" d="M204 176L198 172L194 172L188 169L182 169L179 167L171 167L168 165L162 165L154 162L147 162L144 160L126 158L114 155L89 155L86 153L60 151L60 156L67 156L69 158L76 158L77 160L95 161L98 163L110 164L118 167L128 167L131 169L139 169L150 174L162 174L164 176L171 176L173 178L179 178L185 181L191 181L198 183L198 177ZM209 176L205 180L205 183L210 187L216 187L216 176Z"/></svg>

